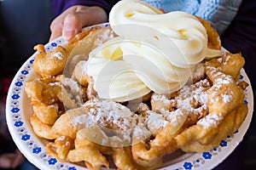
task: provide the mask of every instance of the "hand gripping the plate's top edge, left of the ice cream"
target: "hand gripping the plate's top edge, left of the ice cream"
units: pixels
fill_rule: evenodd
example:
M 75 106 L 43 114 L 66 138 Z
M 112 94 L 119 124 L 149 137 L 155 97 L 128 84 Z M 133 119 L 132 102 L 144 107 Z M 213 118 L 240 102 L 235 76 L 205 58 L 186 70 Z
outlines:
M 106 22 L 108 15 L 103 8 L 76 5 L 67 8 L 50 25 L 51 36 L 49 41 L 63 36 L 66 40 L 74 37 L 84 26 L 91 26 Z

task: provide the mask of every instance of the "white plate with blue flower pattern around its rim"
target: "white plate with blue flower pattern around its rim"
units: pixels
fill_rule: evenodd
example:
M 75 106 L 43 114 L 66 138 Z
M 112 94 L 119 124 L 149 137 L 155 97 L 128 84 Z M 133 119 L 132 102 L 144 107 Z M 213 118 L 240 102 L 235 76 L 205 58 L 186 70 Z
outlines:
M 108 26 L 108 24 L 105 23 L 101 26 Z M 88 29 L 90 28 L 91 27 Z M 57 45 L 63 43 L 65 42 L 60 37 L 46 44 L 45 48 L 47 51 L 50 51 Z M 32 107 L 30 100 L 26 97 L 24 92 L 24 86 L 27 80 L 32 79 L 36 75 L 35 71 L 32 69 L 32 62 L 36 54 L 37 53 L 33 54 L 26 60 L 10 85 L 6 104 L 6 117 L 9 131 L 15 144 L 17 144 L 24 156 L 40 169 L 86 169 L 78 164 L 58 161 L 55 157 L 46 154 L 45 144 L 47 141 L 39 139 L 32 131 L 32 127 L 29 123 L 29 117 L 32 115 Z M 241 71 L 241 79 L 249 83 L 249 79 L 244 70 Z M 224 161 L 241 142 L 251 122 L 253 116 L 253 91 L 251 86 L 247 87 L 245 102 L 248 105 L 248 114 L 245 121 L 241 124 L 241 127 L 236 133 L 228 136 L 217 148 L 203 153 L 183 153 L 177 150 L 171 155 L 164 156 L 164 162 L 160 169 L 212 169 L 220 162 Z

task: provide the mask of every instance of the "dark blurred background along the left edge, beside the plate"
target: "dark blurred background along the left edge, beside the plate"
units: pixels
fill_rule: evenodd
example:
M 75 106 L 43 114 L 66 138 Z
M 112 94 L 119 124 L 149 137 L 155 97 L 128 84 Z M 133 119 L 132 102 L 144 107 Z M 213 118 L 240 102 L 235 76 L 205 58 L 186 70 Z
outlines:
M 0 170 L 10 160 L 19 161 L 12 169 L 36 170 L 17 150 L 5 121 L 5 99 L 9 83 L 38 43 L 49 40 L 53 20 L 49 0 L 0 0 Z

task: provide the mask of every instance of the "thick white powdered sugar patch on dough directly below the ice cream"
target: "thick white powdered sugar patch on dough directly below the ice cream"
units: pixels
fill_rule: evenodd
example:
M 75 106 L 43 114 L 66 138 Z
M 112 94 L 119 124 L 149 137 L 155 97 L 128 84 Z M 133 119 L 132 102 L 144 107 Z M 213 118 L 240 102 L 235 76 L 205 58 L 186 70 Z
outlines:
M 151 135 L 145 119 L 124 105 L 110 100 L 88 100 L 82 107 L 86 111 L 73 118 L 74 126 L 107 127 L 112 133 L 110 141 L 130 144 L 131 136 L 139 141 Z

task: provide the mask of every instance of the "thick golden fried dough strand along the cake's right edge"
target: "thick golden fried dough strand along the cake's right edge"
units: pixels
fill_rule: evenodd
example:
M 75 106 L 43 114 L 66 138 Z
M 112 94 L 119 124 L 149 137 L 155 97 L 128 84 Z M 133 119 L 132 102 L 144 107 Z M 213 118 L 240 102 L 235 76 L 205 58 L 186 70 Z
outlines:
M 236 61 L 240 62 L 240 59 L 236 59 Z M 247 115 L 247 105 L 243 104 L 243 90 L 236 85 L 233 77 L 221 72 L 222 67 L 218 68 L 208 63 L 207 77 L 213 82 L 212 88 L 208 91 L 209 114 L 195 126 L 189 127 L 177 135 L 177 145 L 182 150 L 197 152 L 210 150 L 220 143 L 220 139 L 234 133 Z M 239 112 L 237 113 L 237 111 Z M 237 116 L 238 114 L 239 116 Z M 236 120 L 236 123 L 230 120 Z M 221 134 L 219 134 L 220 132 Z

